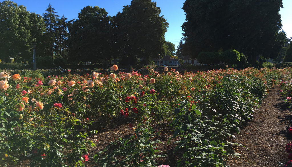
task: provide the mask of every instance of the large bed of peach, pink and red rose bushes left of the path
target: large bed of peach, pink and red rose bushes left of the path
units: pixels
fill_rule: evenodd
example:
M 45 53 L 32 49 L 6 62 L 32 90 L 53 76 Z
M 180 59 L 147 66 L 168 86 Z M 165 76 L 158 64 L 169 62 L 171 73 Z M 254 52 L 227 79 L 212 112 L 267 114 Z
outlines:
M 148 74 L 142 75 L 117 70 L 114 65 L 104 74 L 67 70 L 67 75 L 46 77 L 0 73 L 0 163 L 9 166 L 31 156 L 32 166 L 82 166 L 87 148 L 94 147 L 86 138 L 97 133 L 89 125 L 108 129 L 113 120 L 125 119 L 140 126 L 133 127 L 133 137 L 113 143 L 120 149 L 95 155 L 98 163 L 155 165 L 159 141 L 153 141 L 157 134 L 147 122 L 173 121 L 173 138 L 179 137 L 176 150 L 186 149 L 179 166 L 221 166 L 231 155 L 226 151 L 232 145 L 225 142 L 228 136 L 252 118 L 253 108 L 285 71 L 227 68 L 183 74 L 146 68 Z M 123 160 L 115 157 L 118 150 L 127 151 L 120 154 Z

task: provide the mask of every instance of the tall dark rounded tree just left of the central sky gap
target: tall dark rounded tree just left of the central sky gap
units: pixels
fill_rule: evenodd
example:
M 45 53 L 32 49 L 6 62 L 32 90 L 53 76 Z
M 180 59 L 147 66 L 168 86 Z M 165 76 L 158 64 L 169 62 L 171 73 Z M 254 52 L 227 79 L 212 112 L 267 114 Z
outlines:
M 160 54 L 165 55 L 165 38 L 168 23 L 156 2 L 151 0 L 132 0 L 131 5 L 124 6 L 122 13 L 114 17 L 114 32 L 117 40 L 117 51 L 122 59 L 145 59 L 148 64 L 150 58 Z

